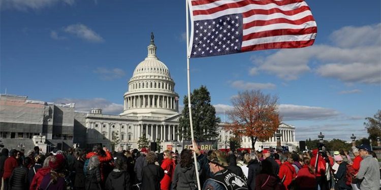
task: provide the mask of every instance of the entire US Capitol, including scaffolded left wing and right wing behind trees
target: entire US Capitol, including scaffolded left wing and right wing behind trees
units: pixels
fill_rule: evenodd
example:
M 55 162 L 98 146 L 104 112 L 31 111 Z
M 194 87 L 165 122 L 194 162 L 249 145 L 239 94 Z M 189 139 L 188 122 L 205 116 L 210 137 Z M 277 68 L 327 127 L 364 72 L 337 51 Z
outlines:
M 28 100 L 27 96 L 0 95 L 0 140 L 8 148 L 43 150 L 91 147 L 102 144 L 114 148 L 137 148 L 142 135 L 154 142 L 160 139 L 163 149 L 182 149 L 179 132 L 179 95 L 168 67 L 156 56 L 153 37 L 147 57 L 140 62 L 123 95 L 123 112 L 107 115 L 101 108 L 89 113 L 76 112 L 75 104 L 59 104 Z M 229 148 L 230 131 L 219 124 L 218 148 Z M 282 145 L 295 149 L 295 127 L 281 124 Z M 275 137 L 257 142 L 256 149 L 276 146 Z M 251 147 L 250 138 L 243 137 L 241 147 Z

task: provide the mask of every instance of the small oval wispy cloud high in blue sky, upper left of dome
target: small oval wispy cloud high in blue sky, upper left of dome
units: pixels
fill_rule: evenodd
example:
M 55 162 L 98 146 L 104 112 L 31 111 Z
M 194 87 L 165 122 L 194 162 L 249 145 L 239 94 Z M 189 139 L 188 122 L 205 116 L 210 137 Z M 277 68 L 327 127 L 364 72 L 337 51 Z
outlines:
M 91 28 L 83 24 L 72 24 L 64 28 L 64 31 L 74 34 L 88 42 L 103 42 L 103 38 Z

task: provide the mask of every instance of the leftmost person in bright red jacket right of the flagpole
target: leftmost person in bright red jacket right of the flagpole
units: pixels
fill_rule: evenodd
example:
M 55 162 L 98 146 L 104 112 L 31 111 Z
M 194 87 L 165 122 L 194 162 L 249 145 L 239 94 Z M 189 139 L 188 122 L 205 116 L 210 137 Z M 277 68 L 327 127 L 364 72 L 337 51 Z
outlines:
M 294 166 L 291 165 L 292 158 L 289 155 L 284 155 L 280 161 L 282 164 L 280 165 L 278 176 L 282 180 L 285 189 L 288 190 L 291 182 L 296 178 L 296 171 Z

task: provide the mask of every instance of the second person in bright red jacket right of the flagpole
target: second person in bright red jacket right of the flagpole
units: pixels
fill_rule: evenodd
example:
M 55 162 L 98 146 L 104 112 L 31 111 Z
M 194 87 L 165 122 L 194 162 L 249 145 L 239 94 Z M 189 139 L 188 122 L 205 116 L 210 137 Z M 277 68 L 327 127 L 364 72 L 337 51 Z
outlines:
M 309 190 L 316 187 L 315 171 L 310 165 L 309 158 L 303 158 L 303 166 L 298 172 L 295 183 L 299 190 Z

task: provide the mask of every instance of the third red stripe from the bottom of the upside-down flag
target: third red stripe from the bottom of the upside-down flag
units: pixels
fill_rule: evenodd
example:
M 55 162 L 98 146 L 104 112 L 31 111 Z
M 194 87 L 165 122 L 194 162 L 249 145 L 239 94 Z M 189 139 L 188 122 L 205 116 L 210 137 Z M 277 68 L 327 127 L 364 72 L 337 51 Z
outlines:
M 243 19 L 244 20 L 244 19 Z M 301 18 L 299 20 L 289 20 L 285 18 L 275 18 L 271 20 L 254 20 L 249 23 L 243 22 L 243 28 L 251 28 L 255 26 L 266 26 L 266 25 L 271 25 L 271 24 L 277 24 L 277 23 L 288 23 L 288 24 L 296 24 L 296 25 L 301 25 L 304 23 L 308 23 L 310 20 L 313 20 L 312 15 L 306 16 L 304 18 Z

